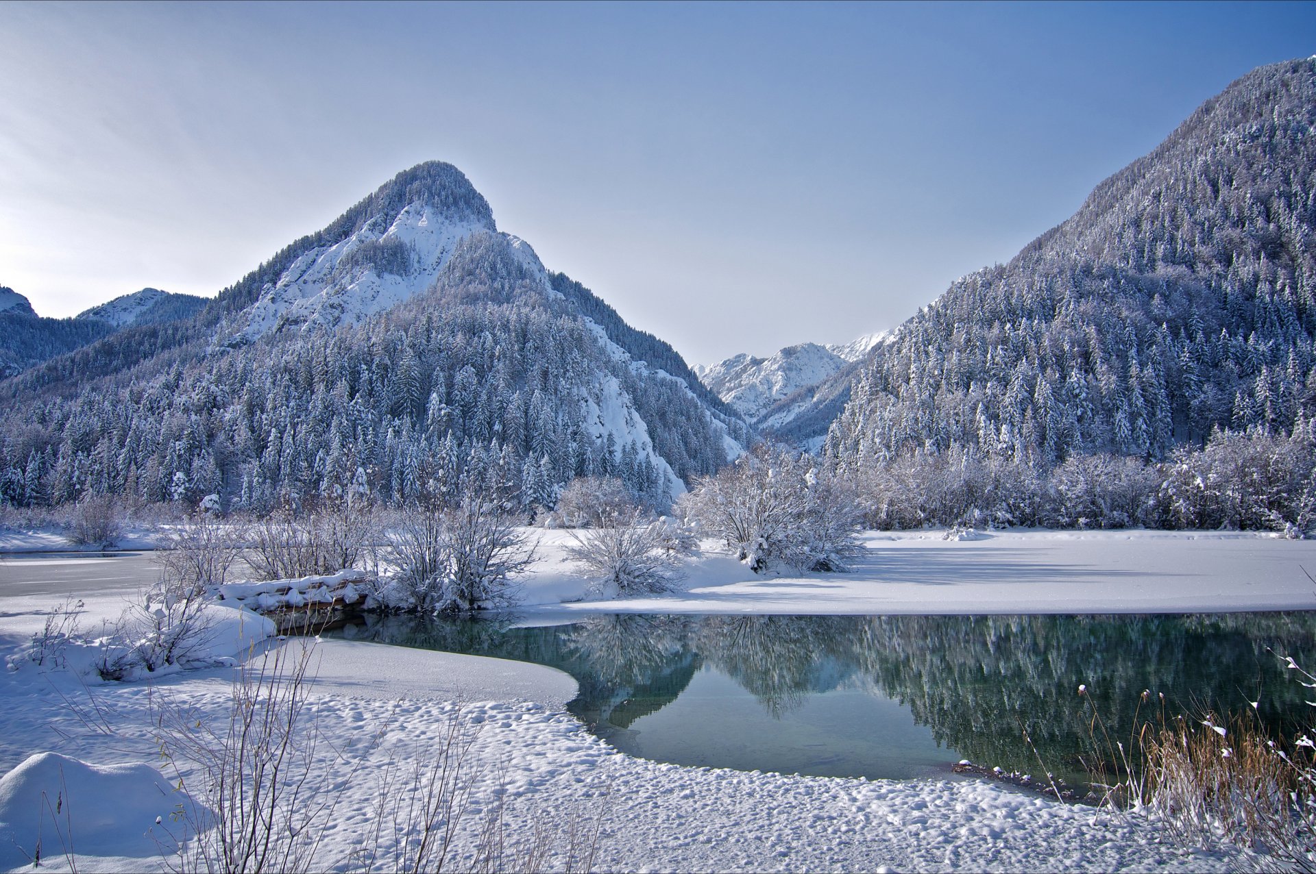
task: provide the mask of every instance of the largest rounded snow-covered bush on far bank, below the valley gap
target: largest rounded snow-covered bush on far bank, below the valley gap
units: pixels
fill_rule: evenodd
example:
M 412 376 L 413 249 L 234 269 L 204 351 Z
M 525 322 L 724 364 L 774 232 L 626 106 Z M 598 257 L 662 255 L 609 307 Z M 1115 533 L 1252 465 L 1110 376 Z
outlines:
M 699 480 L 678 509 L 755 573 L 772 565 L 841 570 L 858 549 L 849 486 L 812 459 L 766 444 Z

